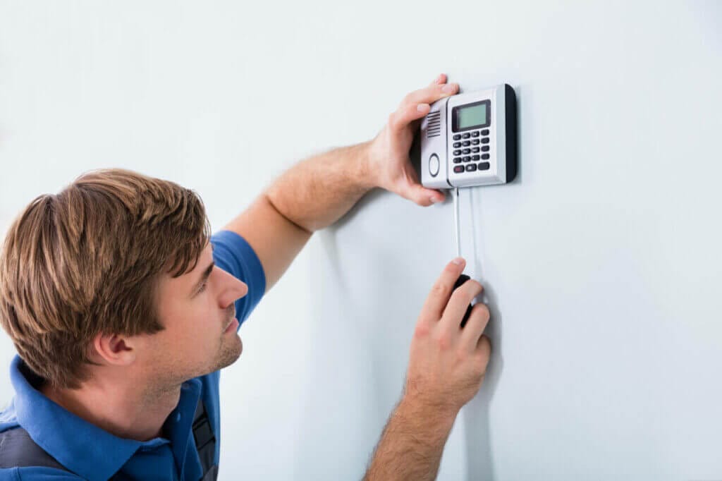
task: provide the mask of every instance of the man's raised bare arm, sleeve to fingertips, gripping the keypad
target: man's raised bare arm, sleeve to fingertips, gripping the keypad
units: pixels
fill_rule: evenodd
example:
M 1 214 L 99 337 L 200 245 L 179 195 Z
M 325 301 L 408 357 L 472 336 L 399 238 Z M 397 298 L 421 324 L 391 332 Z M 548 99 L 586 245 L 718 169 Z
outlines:
M 409 149 L 430 103 L 457 91 L 458 84 L 447 84 L 440 75 L 430 86 L 406 95 L 375 139 L 299 162 L 225 226 L 256 251 L 266 273 L 266 290 L 314 231 L 339 220 L 371 188 L 386 188 L 422 206 L 443 200 L 441 192 L 419 184 Z

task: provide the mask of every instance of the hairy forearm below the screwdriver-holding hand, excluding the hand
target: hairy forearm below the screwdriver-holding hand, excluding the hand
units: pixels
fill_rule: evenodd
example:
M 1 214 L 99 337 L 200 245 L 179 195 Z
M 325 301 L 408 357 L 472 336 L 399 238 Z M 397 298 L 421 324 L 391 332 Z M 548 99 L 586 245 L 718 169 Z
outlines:
M 401 399 L 383 430 L 364 481 L 436 478 L 456 415 L 421 409 Z

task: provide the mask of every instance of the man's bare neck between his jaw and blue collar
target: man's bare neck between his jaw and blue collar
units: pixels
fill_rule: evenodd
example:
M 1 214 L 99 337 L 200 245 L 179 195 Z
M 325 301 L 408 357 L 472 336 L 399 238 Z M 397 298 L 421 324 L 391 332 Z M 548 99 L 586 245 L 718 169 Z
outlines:
M 144 389 L 142 384 L 92 378 L 79 389 L 44 384 L 40 391 L 64 409 L 119 438 L 148 441 L 162 434 L 162 426 L 178 405 L 181 386 Z

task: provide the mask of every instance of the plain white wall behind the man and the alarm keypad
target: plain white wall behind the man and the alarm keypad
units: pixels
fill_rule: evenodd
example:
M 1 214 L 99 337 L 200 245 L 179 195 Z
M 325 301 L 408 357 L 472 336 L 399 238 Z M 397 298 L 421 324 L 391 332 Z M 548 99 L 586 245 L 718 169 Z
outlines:
M 439 479 L 721 479 L 720 4 L 342 3 L 2 1 L 0 230 L 105 166 L 219 228 L 440 71 L 508 82 L 518 181 L 462 199 L 494 351 Z M 452 222 L 376 192 L 316 235 L 222 376 L 222 479 L 362 476 Z

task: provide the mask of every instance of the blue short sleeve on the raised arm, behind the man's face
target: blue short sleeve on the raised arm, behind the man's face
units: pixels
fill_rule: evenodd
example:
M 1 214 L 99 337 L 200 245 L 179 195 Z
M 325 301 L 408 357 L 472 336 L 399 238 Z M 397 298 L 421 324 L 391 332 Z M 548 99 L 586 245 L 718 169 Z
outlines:
M 211 236 L 213 261 L 248 285 L 248 294 L 235 301 L 238 324 L 248 318 L 266 292 L 266 273 L 251 245 L 231 230 L 221 230 Z

